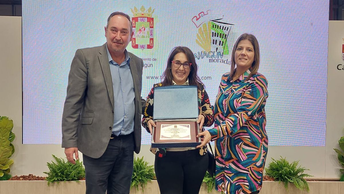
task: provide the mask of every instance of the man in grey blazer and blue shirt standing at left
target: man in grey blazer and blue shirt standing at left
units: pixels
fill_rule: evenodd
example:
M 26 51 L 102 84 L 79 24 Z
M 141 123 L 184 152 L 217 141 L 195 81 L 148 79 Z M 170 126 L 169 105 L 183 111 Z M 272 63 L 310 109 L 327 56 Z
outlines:
M 112 13 L 107 42 L 78 49 L 68 76 L 62 116 L 62 147 L 75 163 L 83 153 L 86 193 L 129 193 L 133 152 L 140 152 L 141 58 L 126 50 L 132 40 L 130 17 Z

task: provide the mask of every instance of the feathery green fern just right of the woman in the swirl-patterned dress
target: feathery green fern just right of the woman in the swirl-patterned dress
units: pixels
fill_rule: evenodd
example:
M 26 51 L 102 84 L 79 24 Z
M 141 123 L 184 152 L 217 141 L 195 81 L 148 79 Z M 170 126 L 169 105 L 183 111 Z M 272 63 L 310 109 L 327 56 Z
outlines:
M 286 158 L 281 158 L 279 160 L 271 158 L 269 167 L 266 168 L 266 175 L 274 178 L 276 181 L 283 182 L 284 187 L 288 189 L 288 184 L 292 183 L 299 190 L 306 190 L 309 192 L 309 187 L 305 177 L 312 177 L 305 173 L 309 169 L 299 166 L 299 161 L 293 161 L 289 163 Z

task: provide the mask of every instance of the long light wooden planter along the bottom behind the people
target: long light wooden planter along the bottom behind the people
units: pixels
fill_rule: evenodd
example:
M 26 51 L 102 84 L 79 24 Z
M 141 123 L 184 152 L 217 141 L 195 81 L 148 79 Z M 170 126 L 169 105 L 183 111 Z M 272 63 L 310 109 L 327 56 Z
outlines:
M 344 194 L 344 182 L 338 181 L 310 181 L 308 182 L 310 192 L 300 191 L 295 186 L 289 185 L 288 191 L 283 184 L 275 181 L 264 181 L 259 194 Z M 46 181 L 0 181 L 0 194 L 85 194 L 85 181 L 60 182 L 48 187 Z M 131 194 L 159 194 L 157 181 L 148 182 L 147 186 L 139 191 L 131 188 Z M 211 194 L 220 194 L 213 190 Z M 206 185 L 201 187 L 200 194 L 207 194 Z

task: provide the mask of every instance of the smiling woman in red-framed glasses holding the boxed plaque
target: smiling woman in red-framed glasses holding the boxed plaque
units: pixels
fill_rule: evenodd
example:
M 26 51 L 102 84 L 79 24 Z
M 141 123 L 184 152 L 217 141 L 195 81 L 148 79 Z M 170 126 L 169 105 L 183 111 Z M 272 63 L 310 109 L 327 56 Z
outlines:
M 197 64 L 192 51 L 187 47 L 175 47 L 163 72 L 163 81 L 154 87 L 170 85 L 196 85 L 198 90 L 197 123 L 211 126 L 214 123 L 213 110 L 208 95 L 197 75 Z M 144 109 L 142 125 L 152 134 L 154 89 L 150 91 Z M 183 109 L 183 107 L 176 107 Z M 161 194 L 199 193 L 208 167 L 206 147 L 151 148 L 155 154 L 154 169 Z

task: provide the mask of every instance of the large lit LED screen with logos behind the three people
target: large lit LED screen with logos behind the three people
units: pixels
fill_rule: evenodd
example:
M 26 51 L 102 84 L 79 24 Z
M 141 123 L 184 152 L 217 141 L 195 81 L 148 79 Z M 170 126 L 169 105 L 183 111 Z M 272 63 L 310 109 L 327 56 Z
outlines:
M 260 45 L 268 79 L 269 145 L 325 146 L 329 2 L 23 1 L 23 143 L 60 144 L 67 78 L 76 49 L 103 45 L 110 13 L 132 17 L 127 49 L 144 61 L 142 97 L 160 82 L 175 46 L 187 46 L 214 104 L 242 33 Z M 142 131 L 142 144 L 150 144 Z

